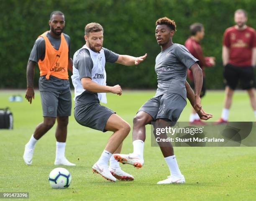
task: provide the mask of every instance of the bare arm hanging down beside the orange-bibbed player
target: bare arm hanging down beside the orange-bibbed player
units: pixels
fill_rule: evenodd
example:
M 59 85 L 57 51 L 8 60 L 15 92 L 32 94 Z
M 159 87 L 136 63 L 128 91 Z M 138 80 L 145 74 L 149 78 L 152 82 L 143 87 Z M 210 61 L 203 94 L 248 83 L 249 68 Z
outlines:
M 28 60 L 28 65 L 27 65 L 27 91 L 25 98 L 32 103 L 32 98 L 35 98 L 35 92 L 34 92 L 34 69 L 36 66 L 35 61 Z

